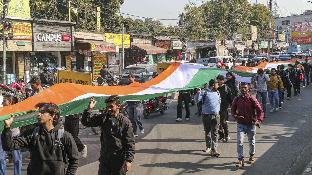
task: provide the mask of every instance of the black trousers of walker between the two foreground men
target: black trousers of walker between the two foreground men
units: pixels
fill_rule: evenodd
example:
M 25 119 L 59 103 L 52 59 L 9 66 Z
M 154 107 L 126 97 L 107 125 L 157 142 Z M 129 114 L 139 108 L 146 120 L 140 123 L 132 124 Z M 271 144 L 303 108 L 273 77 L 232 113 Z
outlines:
M 78 151 L 81 152 L 85 148 L 85 146 L 81 143 L 80 139 L 78 138 L 79 118 L 66 118 L 64 121 L 64 130 L 71 133 L 77 145 Z

